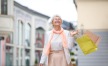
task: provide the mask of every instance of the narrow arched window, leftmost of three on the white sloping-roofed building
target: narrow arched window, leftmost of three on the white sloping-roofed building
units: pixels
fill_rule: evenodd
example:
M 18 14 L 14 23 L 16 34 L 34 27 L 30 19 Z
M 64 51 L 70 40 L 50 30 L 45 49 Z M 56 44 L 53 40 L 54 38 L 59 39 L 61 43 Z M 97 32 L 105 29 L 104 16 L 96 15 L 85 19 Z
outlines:
M 23 44 L 23 23 L 22 21 L 18 21 L 18 44 Z

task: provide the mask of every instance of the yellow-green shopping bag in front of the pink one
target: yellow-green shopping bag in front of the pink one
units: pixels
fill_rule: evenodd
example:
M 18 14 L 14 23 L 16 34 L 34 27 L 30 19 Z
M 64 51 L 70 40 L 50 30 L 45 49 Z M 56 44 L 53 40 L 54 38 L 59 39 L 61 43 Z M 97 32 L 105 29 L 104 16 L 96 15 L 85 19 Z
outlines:
M 85 55 L 95 52 L 97 50 L 96 44 L 89 38 L 89 36 L 85 34 L 77 38 L 76 42 L 78 43 L 79 47 Z

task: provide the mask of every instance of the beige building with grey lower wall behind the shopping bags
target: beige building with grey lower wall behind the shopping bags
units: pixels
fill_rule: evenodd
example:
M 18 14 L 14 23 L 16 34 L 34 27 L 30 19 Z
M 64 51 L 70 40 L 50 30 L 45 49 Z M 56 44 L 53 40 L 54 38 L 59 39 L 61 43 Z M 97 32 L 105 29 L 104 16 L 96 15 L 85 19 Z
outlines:
M 78 50 L 78 66 L 108 66 L 108 0 L 77 0 L 78 29 L 101 37 L 98 50 L 84 55 Z

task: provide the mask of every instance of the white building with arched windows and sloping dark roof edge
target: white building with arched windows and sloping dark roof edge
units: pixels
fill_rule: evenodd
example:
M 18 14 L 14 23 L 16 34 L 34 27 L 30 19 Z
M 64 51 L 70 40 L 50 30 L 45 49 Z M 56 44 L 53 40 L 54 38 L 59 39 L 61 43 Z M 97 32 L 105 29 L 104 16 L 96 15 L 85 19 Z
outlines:
M 30 10 L 17 2 L 14 2 L 14 5 L 16 64 L 30 66 L 35 60 L 40 61 L 49 16 Z

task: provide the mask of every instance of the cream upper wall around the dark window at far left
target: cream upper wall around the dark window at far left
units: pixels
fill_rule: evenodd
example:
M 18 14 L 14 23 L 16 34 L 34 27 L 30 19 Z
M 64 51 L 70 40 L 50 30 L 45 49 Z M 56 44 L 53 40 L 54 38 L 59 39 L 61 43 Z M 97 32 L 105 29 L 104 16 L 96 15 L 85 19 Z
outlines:
M 8 34 L 13 32 L 13 0 L 7 0 L 7 15 L 1 14 L 1 0 L 0 0 L 0 33 Z

